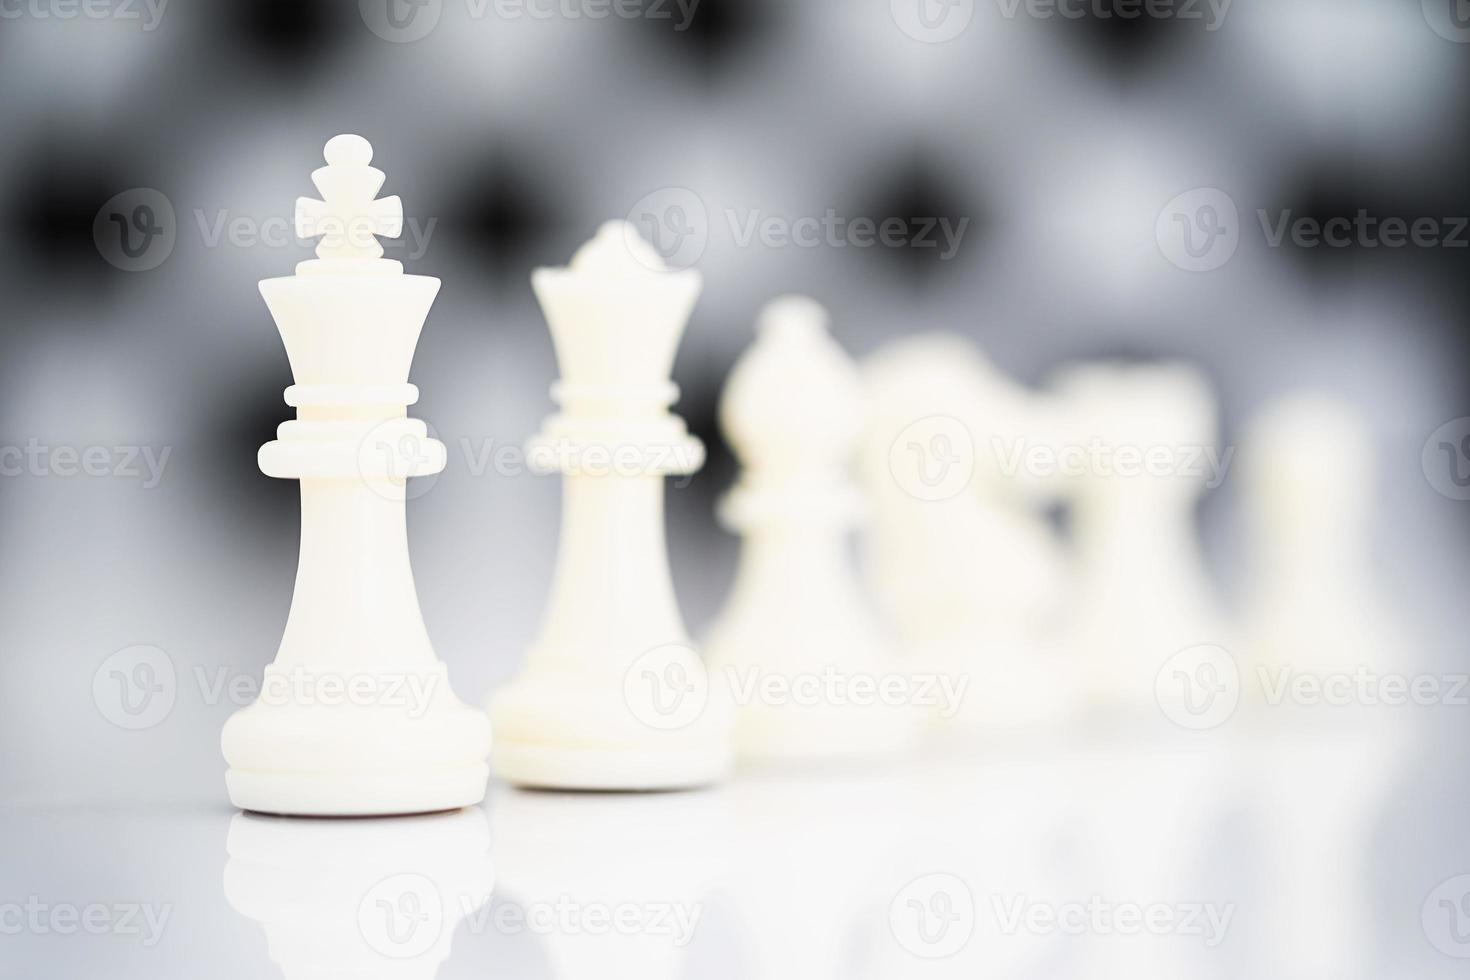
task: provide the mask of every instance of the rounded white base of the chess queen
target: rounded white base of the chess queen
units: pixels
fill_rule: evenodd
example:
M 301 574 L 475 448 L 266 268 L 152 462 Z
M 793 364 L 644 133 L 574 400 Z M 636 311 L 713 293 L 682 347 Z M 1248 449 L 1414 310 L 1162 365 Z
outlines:
M 495 695 L 490 714 L 491 765 L 526 789 L 694 789 L 726 779 L 734 765 L 729 714 L 717 704 L 659 729 L 629 711 L 620 691 L 522 679 Z

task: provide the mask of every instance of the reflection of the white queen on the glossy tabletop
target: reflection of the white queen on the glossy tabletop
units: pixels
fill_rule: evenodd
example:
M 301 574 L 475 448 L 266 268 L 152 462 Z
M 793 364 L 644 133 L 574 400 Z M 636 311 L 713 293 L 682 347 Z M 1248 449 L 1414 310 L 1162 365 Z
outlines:
M 729 860 L 725 790 L 494 799 L 492 921 L 529 933 L 553 980 L 676 980 Z

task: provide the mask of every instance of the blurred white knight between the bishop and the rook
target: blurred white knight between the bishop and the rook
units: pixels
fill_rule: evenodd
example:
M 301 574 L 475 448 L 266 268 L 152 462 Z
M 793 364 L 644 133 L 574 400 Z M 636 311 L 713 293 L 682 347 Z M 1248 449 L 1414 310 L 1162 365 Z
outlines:
M 916 664 L 970 679 L 944 730 L 1063 721 L 1072 671 L 1050 624 L 1067 574 L 1041 514 L 1054 482 L 1030 466 L 1053 441 L 1048 406 L 956 335 L 891 344 L 863 375 L 870 583 Z

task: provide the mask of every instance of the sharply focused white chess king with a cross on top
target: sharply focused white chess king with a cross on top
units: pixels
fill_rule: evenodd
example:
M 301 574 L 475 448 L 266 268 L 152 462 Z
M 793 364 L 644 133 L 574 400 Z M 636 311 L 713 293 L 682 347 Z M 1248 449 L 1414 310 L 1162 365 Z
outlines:
M 301 480 L 291 613 L 260 698 L 225 724 L 231 801 L 298 815 L 407 814 L 479 802 L 490 723 L 450 691 L 409 566 L 404 483 L 438 473 L 444 445 L 407 417 L 409 366 L 440 281 L 382 257 L 403 206 L 375 200 L 372 147 L 341 135 L 297 201 L 320 237 L 294 276 L 266 279 L 297 417 L 260 447 L 268 476 Z

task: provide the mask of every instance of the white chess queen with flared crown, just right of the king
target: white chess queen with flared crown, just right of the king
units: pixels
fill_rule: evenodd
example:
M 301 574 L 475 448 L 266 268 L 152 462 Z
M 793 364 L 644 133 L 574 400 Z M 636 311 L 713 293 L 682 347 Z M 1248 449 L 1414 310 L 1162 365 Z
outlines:
M 669 411 L 700 273 L 670 272 L 625 222 L 531 276 L 560 411 L 529 447 L 563 475 L 551 599 L 525 670 L 491 702 L 495 771 L 522 786 L 675 789 L 725 776 L 728 713 L 675 601 L 663 482 L 704 447 Z

